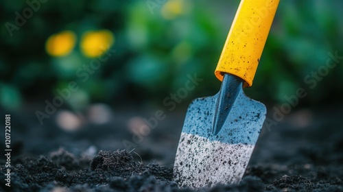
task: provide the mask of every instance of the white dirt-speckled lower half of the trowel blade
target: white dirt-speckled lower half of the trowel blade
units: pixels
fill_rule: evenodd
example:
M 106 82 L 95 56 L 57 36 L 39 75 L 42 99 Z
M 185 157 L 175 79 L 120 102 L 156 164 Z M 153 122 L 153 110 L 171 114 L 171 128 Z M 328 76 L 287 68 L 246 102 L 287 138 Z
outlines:
M 209 141 L 202 136 L 182 132 L 174 163 L 174 178 L 180 187 L 193 189 L 217 183 L 238 183 L 254 147 Z

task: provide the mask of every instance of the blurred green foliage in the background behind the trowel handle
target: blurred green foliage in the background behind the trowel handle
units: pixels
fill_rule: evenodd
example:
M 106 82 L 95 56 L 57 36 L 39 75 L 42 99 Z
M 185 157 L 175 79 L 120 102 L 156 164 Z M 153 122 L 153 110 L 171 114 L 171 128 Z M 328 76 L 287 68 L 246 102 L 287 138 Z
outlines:
M 1 1 L 0 104 L 5 108 L 44 104 L 73 80 L 80 89 L 68 101 L 72 108 L 93 101 L 162 104 L 185 86 L 187 74 L 194 73 L 204 81 L 186 100 L 214 95 L 220 82 L 213 71 L 238 4 L 238 0 L 169 0 L 152 9 L 147 1 L 47 1 L 11 37 L 5 23 L 14 24 L 16 12 L 23 15 L 29 5 Z M 302 104 L 340 101 L 343 60 L 315 88 L 309 88 L 304 78 L 327 62 L 329 52 L 343 56 L 342 8 L 340 0 L 281 1 L 247 95 L 281 103 L 285 95 L 303 87 L 309 94 Z M 97 29 L 113 32 L 115 53 L 82 82 L 76 71 L 91 58 L 80 51 L 80 38 Z M 46 40 L 63 30 L 76 34 L 76 46 L 67 56 L 51 57 L 45 51 Z

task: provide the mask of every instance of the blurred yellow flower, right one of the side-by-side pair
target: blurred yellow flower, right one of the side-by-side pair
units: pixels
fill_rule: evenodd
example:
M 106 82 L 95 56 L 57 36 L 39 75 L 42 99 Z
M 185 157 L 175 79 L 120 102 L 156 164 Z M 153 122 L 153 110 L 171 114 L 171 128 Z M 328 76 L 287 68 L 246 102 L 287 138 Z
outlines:
M 81 50 L 85 56 L 95 58 L 108 51 L 114 41 L 112 32 L 106 29 L 86 32 L 81 39 Z

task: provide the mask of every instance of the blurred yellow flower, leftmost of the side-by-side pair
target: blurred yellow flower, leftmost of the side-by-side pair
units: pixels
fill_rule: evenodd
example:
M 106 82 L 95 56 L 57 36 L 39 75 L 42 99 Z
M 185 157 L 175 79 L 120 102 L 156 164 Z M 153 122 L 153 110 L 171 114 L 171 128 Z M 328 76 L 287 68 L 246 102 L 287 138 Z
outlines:
M 76 36 L 71 31 L 53 34 L 47 39 L 45 50 L 50 56 L 67 56 L 75 47 Z

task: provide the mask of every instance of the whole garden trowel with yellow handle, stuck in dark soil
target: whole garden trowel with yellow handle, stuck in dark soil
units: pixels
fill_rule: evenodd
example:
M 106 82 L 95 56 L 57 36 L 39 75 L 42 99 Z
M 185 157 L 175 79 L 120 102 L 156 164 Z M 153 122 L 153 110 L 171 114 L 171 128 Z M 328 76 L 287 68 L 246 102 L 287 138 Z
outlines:
M 195 99 L 187 110 L 174 163 L 180 187 L 241 180 L 267 112 L 243 88 L 252 86 L 278 5 L 279 0 L 241 0 L 215 69 L 220 92 Z

